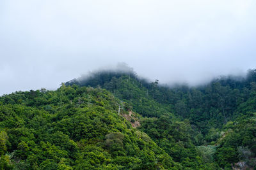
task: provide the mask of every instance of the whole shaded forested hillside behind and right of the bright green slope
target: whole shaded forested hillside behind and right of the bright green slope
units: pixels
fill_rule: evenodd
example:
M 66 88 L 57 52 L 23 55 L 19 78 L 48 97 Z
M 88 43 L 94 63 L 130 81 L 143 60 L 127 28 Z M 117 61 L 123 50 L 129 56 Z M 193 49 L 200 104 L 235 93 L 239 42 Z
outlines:
M 250 69 L 246 77 L 221 76 L 198 87 L 168 87 L 159 85 L 158 80 L 150 83 L 133 71 L 99 71 L 66 84 L 100 86 L 129 103 L 132 110 L 144 117 L 139 129 L 173 160 L 196 162 L 198 151 L 205 162 L 230 169 L 239 161 L 244 166 L 256 165 L 255 82 L 256 70 Z M 175 129 L 179 130 L 175 132 Z M 237 133 L 241 134 L 237 136 L 239 141 L 225 144 Z M 248 143 L 243 143 L 247 139 Z M 244 152 L 249 155 L 246 159 L 242 156 Z

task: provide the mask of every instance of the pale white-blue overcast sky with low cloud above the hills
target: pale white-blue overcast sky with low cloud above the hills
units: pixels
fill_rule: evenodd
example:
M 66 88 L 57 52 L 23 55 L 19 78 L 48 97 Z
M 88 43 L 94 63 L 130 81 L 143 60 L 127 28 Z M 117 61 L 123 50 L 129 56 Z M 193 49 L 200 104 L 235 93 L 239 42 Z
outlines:
M 0 96 L 125 62 L 198 85 L 256 67 L 256 1 L 1 0 Z

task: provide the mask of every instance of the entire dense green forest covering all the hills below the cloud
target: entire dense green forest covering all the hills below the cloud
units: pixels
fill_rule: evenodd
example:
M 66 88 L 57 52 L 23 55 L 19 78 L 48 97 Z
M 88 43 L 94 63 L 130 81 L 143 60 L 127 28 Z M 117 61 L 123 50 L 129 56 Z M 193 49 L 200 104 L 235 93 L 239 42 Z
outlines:
M 253 169 L 256 69 L 168 87 L 97 71 L 0 97 L 1 169 Z

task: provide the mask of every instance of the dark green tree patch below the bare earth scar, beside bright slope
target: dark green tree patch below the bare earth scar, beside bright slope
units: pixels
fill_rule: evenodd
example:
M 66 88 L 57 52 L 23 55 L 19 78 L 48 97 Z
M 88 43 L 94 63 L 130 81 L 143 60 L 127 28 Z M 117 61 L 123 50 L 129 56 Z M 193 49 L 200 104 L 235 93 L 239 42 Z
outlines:
M 145 118 L 141 122 L 140 129 L 146 132 L 173 160 L 180 162 L 183 168 L 191 167 L 191 162 L 194 169 L 201 167 L 200 153 L 192 142 L 195 141 L 192 136 L 195 132 L 188 121 L 172 122 L 167 116 L 158 119 Z

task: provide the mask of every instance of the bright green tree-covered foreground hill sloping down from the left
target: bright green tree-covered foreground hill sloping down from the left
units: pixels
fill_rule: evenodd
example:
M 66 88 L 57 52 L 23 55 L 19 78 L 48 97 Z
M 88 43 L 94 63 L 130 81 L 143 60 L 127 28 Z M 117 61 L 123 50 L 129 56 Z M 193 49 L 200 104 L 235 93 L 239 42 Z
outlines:
M 62 85 L 56 91 L 15 92 L 0 101 L 2 169 L 177 166 L 118 115 L 120 101 L 107 90 Z

